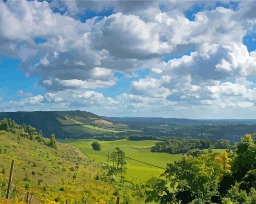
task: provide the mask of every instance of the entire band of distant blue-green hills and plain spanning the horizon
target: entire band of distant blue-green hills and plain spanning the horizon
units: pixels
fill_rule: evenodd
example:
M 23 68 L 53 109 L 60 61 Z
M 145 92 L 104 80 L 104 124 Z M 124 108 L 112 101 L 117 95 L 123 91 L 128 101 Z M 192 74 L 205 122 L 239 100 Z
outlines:
M 2 112 L 0 120 L 11 118 L 31 124 L 45 137 L 58 139 L 117 140 L 133 135 L 187 137 L 239 141 L 256 130 L 255 120 L 190 120 L 178 118 L 109 118 L 86 111 Z

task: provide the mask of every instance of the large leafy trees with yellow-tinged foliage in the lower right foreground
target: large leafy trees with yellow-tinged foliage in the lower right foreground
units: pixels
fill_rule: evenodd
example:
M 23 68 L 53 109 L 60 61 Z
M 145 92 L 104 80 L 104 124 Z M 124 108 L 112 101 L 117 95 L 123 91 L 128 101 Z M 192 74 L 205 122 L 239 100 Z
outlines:
M 254 134 L 255 137 L 255 134 Z M 256 144 L 247 134 L 237 150 L 184 157 L 146 185 L 146 202 L 256 203 Z

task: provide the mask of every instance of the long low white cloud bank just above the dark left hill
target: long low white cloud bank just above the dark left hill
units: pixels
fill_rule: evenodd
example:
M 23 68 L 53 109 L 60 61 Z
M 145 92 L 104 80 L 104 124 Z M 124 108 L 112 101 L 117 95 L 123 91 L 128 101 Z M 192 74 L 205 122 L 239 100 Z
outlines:
M 123 109 L 137 112 L 146 112 L 149 110 L 162 109 L 164 107 L 172 107 L 176 102 L 172 102 L 163 98 L 143 97 L 133 94 L 120 94 L 114 98 L 105 97 L 102 93 L 95 91 L 82 90 L 64 90 L 54 93 L 46 93 L 45 95 L 36 95 L 23 98 L 19 101 L 9 101 L 0 104 L 1 110 L 19 110 L 20 107 L 40 106 L 40 110 L 49 110 L 55 107 L 58 110 L 66 109 L 91 109 L 91 110 L 115 110 L 122 113 Z M 25 109 L 26 110 L 26 109 Z

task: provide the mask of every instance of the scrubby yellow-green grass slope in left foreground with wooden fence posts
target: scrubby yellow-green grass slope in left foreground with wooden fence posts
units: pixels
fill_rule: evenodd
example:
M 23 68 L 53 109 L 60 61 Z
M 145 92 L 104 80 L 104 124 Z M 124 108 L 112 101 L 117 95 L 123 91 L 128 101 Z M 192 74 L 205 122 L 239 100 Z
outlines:
M 109 183 L 95 179 L 101 171 L 101 164 L 88 158 L 77 147 L 56 143 L 56 148 L 46 144 L 44 137 L 39 142 L 36 135 L 26 138 L 21 126 L 10 127 L 10 131 L 0 130 L 0 198 L 5 196 L 7 177 L 12 160 L 15 160 L 13 187 L 11 197 L 25 199 L 25 194 L 33 194 L 33 204 L 48 203 L 80 203 L 88 200 L 88 204 L 104 199 L 111 203 L 117 195 L 133 202 L 131 184 Z M 0 123 L 0 126 L 3 122 Z M 27 126 L 31 127 L 31 126 Z M 42 142 L 44 141 L 44 142 Z M 130 203 L 130 202 L 129 202 Z

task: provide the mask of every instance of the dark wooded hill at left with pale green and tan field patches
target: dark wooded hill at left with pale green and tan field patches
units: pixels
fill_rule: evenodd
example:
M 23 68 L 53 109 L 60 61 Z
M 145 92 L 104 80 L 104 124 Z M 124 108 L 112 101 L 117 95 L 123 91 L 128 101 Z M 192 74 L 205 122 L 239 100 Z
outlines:
M 125 132 L 126 126 L 113 124 L 86 111 L 2 112 L 0 120 L 11 118 L 18 124 L 31 124 L 42 130 L 46 137 L 55 133 L 57 138 L 92 138 L 95 135 L 113 135 Z

